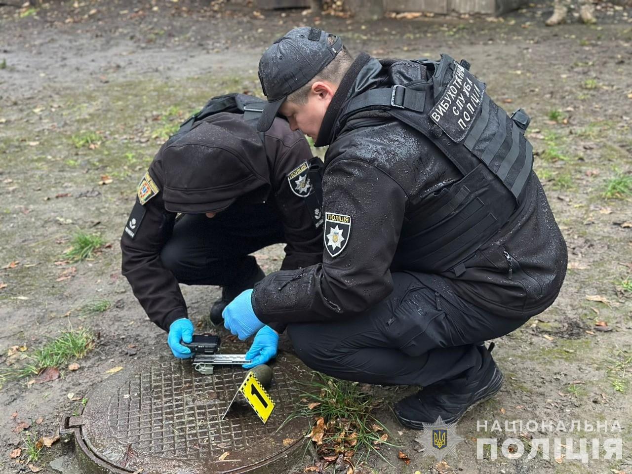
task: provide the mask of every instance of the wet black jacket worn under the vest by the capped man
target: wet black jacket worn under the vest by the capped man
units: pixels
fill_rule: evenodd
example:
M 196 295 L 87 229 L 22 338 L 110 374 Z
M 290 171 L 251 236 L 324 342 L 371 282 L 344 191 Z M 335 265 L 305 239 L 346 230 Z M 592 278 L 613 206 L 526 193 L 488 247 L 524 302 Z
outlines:
M 340 225 L 346 242 L 334 242 L 332 226 L 328 231 L 325 222 L 325 249 L 332 234 L 330 248 L 336 246 L 336 252 L 325 250 L 322 264 L 276 272 L 255 285 L 253 308 L 260 320 L 307 322 L 363 312 L 391 293 L 391 272 L 403 270 L 446 277 L 466 301 L 507 317 L 530 317 L 554 301 L 566 273 L 566 244 L 533 172 L 523 205 L 468 255 L 464 271 L 428 269 L 419 262 L 416 249 L 434 242 L 420 238 L 416 245 L 400 245 L 401 235 L 423 222 L 424 210 L 463 174 L 431 140 L 386 112 L 348 118 L 345 109 L 365 90 L 424 77 L 419 63 L 382 64 L 366 54 L 351 66 L 317 140 L 317 145 L 331 143 L 325 155 L 324 212 L 343 216 L 332 216 L 341 222 L 349 217 L 349 229 Z

